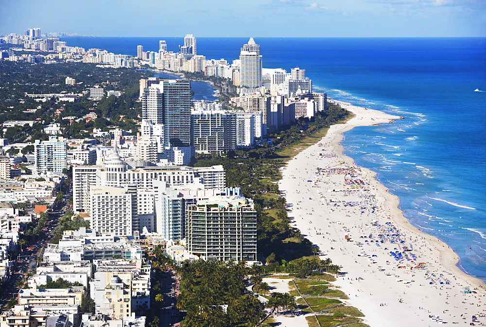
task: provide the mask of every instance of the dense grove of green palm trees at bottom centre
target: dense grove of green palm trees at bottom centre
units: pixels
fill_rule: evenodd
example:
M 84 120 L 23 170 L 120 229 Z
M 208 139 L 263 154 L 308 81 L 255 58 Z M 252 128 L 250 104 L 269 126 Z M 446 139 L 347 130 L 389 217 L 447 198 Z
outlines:
M 177 308 L 185 312 L 181 326 L 257 326 L 263 305 L 246 290 L 251 268 L 244 262 L 185 262 L 178 269 L 181 293 Z

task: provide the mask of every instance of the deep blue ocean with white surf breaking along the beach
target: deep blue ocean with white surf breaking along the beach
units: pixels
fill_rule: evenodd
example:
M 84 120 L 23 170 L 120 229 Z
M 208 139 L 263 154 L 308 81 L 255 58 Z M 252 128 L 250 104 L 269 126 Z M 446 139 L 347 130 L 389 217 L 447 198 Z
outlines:
M 197 36 L 197 35 L 196 35 Z M 183 38 L 66 37 L 68 45 L 135 55 L 137 45 L 178 51 Z M 208 59 L 238 59 L 248 38 L 198 38 Z M 404 116 L 355 128 L 345 153 L 378 173 L 412 224 L 486 279 L 486 38 L 258 38 L 263 66 L 298 65 L 332 98 Z M 206 87 L 206 88 L 205 88 Z M 199 84 L 197 99 L 211 98 Z

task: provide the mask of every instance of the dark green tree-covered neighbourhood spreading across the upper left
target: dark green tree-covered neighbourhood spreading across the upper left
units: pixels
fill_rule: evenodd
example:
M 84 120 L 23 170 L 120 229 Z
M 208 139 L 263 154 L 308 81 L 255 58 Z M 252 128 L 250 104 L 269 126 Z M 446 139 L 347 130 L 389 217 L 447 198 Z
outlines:
M 38 124 L 30 127 L 15 126 L 2 135 L 9 142 L 25 140 L 45 140 L 45 125 L 59 123 L 67 137 L 89 137 L 92 129 L 104 129 L 108 126 L 136 130 L 135 120 L 139 120 L 139 79 L 153 75 L 150 71 L 127 68 L 97 67 L 96 64 L 29 64 L 22 62 L 0 61 L 0 118 L 7 120 L 37 120 Z M 76 80 L 75 85 L 66 85 L 65 78 Z M 105 90 L 120 90 L 119 98 L 105 97 L 100 101 L 89 100 L 86 96 L 78 102 L 56 102 L 54 98 L 46 102 L 37 102 L 25 97 L 28 94 L 81 93 L 95 84 L 102 84 Z M 91 108 L 91 109 L 90 109 Z M 35 112 L 24 112 L 37 109 Z M 57 112 L 57 113 L 56 113 Z M 89 113 L 96 113 L 95 121 L 81 120 L 70 122 L 63 117 L 81 118 Z

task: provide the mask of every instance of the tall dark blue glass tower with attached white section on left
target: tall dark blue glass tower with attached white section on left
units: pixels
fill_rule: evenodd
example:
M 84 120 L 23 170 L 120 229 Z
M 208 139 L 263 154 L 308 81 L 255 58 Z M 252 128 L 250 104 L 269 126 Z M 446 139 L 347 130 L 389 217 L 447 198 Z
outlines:
M 164 124 L 164 146 L 191 147 L 191 85 L 161 80 L 143 90 L 142 119 Z

